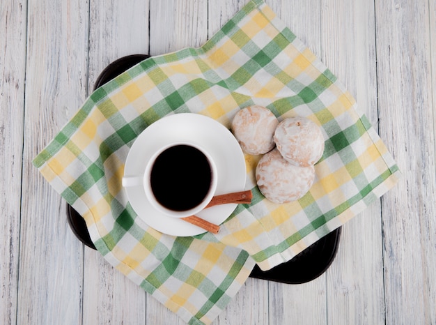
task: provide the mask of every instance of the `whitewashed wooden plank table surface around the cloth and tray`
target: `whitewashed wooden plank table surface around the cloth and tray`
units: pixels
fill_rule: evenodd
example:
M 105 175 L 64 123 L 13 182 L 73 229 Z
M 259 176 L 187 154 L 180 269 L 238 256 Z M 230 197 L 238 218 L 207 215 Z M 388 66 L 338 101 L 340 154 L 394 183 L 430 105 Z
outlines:
M 98 252 L 31 160 L 127 54 L 197 47 L 247 0 L 2 0 L 0 324 L 181 324 Z M 333 71 L 403 179 L 304 285 L 249 278 L 214 324 L 436 324 L 436 0 L 267 0 Z

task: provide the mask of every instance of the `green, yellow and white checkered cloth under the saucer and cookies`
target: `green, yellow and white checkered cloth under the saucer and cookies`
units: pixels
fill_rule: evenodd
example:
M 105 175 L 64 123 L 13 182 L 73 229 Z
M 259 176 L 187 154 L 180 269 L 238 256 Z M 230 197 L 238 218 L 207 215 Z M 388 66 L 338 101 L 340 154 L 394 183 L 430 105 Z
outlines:
M 310 192 L 274 204 L 238 205 L 219 234 L 174 237 L 137 218 L 121 186 L 132 143 L 151 123 L 181 112 L 230 128 L 249 105 L 279 120 L 306 116 L 326 137 Z M 399 171 L 336 77 L 260 0 L 250 1 L 198 49 L 142 61 L 104 84 L 35 158 L 34 165 L 81 216 L 107 261 L 189 324 L 208 324 L 254 264 L 287 262 L 387 192 Z

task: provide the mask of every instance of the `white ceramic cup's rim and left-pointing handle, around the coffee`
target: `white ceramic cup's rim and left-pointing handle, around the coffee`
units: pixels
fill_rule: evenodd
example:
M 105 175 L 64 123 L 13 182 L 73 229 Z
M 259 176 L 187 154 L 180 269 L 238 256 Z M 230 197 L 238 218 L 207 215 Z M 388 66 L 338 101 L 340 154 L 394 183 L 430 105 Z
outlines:
M 161 204 L 161 202 L 159 202 L 159 200 L 155 195 L 155 192 L 153 191 L 152 172 L 153 172 L 153 168 L 155 167 L 156 160 L 159 158 L 159 156 L 161 156 L 162 153 L 164 153 L 164 151 L 167 151 L 168 149 L 171 149 L 172 147 L 176 147 L 176 146 L 190 146 L 195 149 L 198 149 L 198 151 L 201 151 L 201 153 L 203 153 L 205 158 L 208 160 L 208 165 L 210 168 L 210 186 L 208 187 L 207 192 L 205 192 L 204 198 L 201 199 L 201 202 L 199 204 L 189 207 L 189 209 L 182 209 L 182 210 L 169 209 L 168 206 L 165 206 Z M 184 159 L 184 158 L 181 157 L 180 159 Z M 172 164 L 174 168 L 178 166 L 177 161 L 171 161 L 168 163 Z M 193 179 L 194 177 L 196 177 L 195 173 L 192 174 Z M 205 150 L 202 146 L 199 146 L 194 142 L 180 141 L 180 142 L 172 142 L 170 144 L 166 144 L 166 146 L 163 146 L 158 151 L 153 153 L 150 160 L 148 160 L 147 162 L 143 175 L 129 175 L 128 171 L 125 171 L 125 176 L 123 176 L 122 183 L 123 183 L 123 187 L 143 186 L 143 190 L 146 194 L 146 198 L 144 199 L 147 199 L 154 209 L 173 218 L 184 218 L 187 216 L 193 216 L 196 213 L 205 209 L 205 206 L 208 205 L 212 197 L 215 195 L 215 190 L 217 189 L 217 183 L 218 183 L 218 174 L 217 174 L 217 167 L 215 165 L 215 162 L 213 161 L 212 157 L 210 156 L 207 150 Z M 171 178 L 165 181 L 165 183 L 167 183 L 166 184 L 167 187 L 171 187 Z M 189 184 L 187 184 L 187 186 L 189 186 Z M 169 189 L 169 192 L 171 192 L 171 189 Z M 185 196 L 189 195 L 189 191 L 183 192 L 182 195 Z M 169 199 L 171 199 L 171 197 L 169 197 Z

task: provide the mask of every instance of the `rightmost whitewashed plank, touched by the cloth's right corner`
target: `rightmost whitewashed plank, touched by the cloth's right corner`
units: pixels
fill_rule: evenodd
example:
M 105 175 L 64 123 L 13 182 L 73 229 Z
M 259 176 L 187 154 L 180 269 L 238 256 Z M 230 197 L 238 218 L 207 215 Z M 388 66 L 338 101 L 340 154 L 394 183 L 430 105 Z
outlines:
M 386 323 L 435 324 L 435 3 L 375 4 L 380 134 L 403 172 L 382 199 Z

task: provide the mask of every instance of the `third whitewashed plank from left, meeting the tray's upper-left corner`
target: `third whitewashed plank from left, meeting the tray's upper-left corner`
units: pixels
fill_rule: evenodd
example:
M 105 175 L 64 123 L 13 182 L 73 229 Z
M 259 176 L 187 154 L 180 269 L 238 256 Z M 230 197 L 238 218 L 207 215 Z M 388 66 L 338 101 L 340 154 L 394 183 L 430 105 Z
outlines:
M 112 61 L 148 53 L 148 1 L 90 3 L 88 93 Z M 84 324 L 145 324 L 146 292 L 85 248 Z

